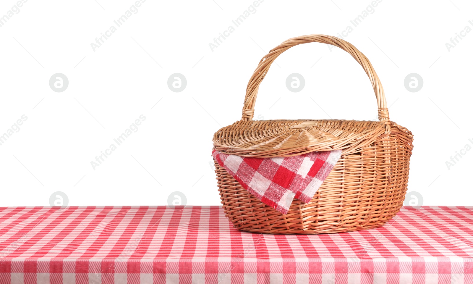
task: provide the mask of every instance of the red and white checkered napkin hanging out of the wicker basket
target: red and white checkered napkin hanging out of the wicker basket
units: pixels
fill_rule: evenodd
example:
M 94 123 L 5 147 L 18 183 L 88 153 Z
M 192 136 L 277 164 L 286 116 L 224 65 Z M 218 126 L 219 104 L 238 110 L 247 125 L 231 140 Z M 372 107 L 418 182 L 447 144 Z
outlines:
M 212 156 L 252 195 L 286 214 L 293 198 L 309 203 L 342 150 L 292 157 L 253 158 L 213 150 Z

